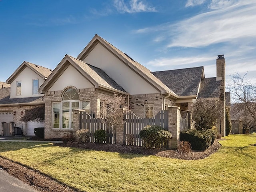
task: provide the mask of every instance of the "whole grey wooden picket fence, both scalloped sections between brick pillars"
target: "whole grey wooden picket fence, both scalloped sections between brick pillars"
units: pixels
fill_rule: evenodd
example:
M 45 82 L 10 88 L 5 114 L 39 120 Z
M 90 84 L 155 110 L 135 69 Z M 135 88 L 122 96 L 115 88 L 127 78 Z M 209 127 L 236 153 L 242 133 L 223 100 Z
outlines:
M 152 118 L 139 118 L 133 112 L 128 112 L 124 114 L 124 121 L 124 144 L 143 146 L 143 142 L 139 136 L 140 130 L 147 125 L 158 125 L 168 130 L 168 110 L 162 110 Z M 99 129 L 103 129 L 107 133 L 106 144 L 112 144 L 114 141 L 110 124 L 106 125 L 101 119 L 93 118 L 86 112 L 80 112 L 80 129 L 88 129 L 90 131 L 88 142 L 96 142 L 94 132 Z M 167 148 L 168 141 L 160 147 Z

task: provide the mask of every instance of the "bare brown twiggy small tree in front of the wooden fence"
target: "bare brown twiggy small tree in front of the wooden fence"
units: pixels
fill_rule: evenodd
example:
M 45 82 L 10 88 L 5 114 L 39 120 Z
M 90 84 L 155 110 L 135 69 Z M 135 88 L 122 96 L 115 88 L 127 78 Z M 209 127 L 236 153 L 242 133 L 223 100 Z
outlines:
M 124 124 L 124 114 L 120 108 L 128 110 L 126 98 L 116 93 L 114 93 L 114 97 L 108 99 L 106 104 L 103 104 L 100 108 L 100 119 L 112 129 L 114 142 L 116 142 L 116 128 Z

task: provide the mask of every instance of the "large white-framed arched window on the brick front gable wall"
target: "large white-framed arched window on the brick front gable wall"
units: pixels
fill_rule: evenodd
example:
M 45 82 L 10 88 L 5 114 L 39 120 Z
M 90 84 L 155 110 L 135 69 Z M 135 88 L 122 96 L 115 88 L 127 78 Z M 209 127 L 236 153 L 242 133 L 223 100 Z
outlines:
M 69 88 L 63 94 L 62 102 L 52 103 L 52 128 L 72 129 L 72 110 L 80 108 L 90 113 L 90 101 L 80 102 L 78 92 L 73 88 Z

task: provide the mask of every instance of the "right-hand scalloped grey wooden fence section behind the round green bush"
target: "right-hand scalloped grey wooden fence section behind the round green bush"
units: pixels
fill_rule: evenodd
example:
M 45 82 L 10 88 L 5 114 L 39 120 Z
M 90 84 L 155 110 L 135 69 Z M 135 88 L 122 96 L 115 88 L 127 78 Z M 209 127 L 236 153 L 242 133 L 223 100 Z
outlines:
M 136 146 L 143 146 L 143 142 L 139 136 L 140 130 L 147 125 L 157 125 L 168 130 L 168 111 L 159 111 L 156 116 L 152 118 L 140 118 L 133 112 L 129 112 L 125 115 L 124 123 L 124 144 L 132 144 Z M 168 141 L 162 144 L 160 147 L 168 147 Z

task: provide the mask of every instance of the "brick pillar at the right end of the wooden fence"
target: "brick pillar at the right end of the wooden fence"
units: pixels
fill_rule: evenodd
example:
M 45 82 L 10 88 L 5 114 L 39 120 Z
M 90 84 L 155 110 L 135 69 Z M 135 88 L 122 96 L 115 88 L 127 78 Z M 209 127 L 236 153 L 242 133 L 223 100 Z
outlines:
M 168 107 L 168 130 L 172 134 L 168 148 L 176 149 L 180 142 L 180 107 Z

